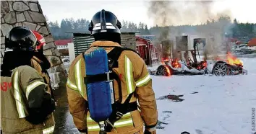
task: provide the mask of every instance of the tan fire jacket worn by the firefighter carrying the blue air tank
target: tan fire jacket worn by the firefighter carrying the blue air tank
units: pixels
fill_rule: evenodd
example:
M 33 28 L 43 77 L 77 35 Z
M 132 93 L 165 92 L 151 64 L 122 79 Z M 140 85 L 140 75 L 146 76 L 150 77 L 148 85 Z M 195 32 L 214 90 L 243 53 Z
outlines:
M 90 45 L 91 51 L 97 46 L 108 46 L 104 48 L 108 53 L 112 47 L 121 47 L 118 43 L 111 41 L 95 41 Z M 69 112 L 72 114 L 74 125 L 83 132 L 88 129 L 89 134 L 97 133 L 100 130 L 98 123 L 90 118 L 86 87 L 84 83 L 85 61 L 78 55 L 69 68 L 67 80 L 67 97 L 69 101 Z M 130 102 L 138 102 L 138 110 L 128 112 L 120 120 L 114 123 L 117 133 L 143 133 L 143 126 L 153 128 L 158 121 L 158 112 L 155 101 L 155 93 L 152 89 L 152 80 L 148 69 L 139 55 L 130 50 L 124 50 L 119 57 L 119 68 L 113 68 L 121 80 L 122 103 L 129 94 L 135 92 Z M 115 99 L 119 99 L 118 84 L 114 81 Z M 101 98 L 98 98 L 101 99 Z M 116 133 L 113 129 L 111 133 Z

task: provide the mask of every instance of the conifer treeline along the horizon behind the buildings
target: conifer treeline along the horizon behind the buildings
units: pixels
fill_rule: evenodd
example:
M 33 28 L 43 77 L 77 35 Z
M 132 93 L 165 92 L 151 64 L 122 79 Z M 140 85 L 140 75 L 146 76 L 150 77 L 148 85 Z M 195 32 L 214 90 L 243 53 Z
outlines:
M 54 37 L 54 40 L 64 40 L 72 38 L 70 32 L 88 32 L 88 25 L 90 21 L 87 19 L 73 18 L 62 19 L 61 24 L 58 22 L 48 21 L 48 26 Z M 220 17 L 217 20 L 208 20 L 204 24 L 197 25 L 182 25 L 182 26 L 169 26 L 169 27 L 155 27 L 148 28 L 148 25 L 140 22 L 121 21 L 121 31 L 139 31 L 138 35 L 157 35 L 161 36 L 161 32 L 168 30 L 172 35 L 197 34 L 198 32 L 206 32 L 209 30 L 222 30 L 226 32 L 226 36 L 238 38 L 242 41 L 249 41 L 252 37 L 256 37 L 256 24 L 255 23 L 240 23 L 236 19 L 231 21 L 229 17 Z M 67 33 L 69 32 L 69 33 Z M 169 33 L 169 35 L 171 35 Z

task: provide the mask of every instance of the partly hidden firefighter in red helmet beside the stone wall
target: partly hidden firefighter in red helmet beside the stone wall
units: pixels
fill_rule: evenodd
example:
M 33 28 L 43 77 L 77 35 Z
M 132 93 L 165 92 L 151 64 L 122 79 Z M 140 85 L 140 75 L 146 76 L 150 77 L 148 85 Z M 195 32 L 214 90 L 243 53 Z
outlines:
M 46 58 L 46 55 L 43 54 L 43 46 L 46 45 L 46 40 L 36 31 L 33 31 L 33 34 L 37 38 L 37 42 L 34 56 L 31 58 L 31 66 L 35 68 L 41 76 L 43 76 L 43 79 L 47 84 L 48 91 L 51 93 L 51 97 L 55 100 L 50 76 L 47 72 L 47 69 L 51 68 L 51 63 Z

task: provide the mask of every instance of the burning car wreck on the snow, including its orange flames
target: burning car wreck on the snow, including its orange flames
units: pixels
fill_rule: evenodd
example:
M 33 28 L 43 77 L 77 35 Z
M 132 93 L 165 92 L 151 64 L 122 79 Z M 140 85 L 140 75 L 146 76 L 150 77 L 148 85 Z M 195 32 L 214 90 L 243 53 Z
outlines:
M 171 76 L 171 75 L 203 75 L 214 74 L 216 76 L 247 74 L 243 69 L 243 62 L 238 58 L 228 53 L 225 59 L 203 60 L 197 61 L 197 56 L 200 59 L 198 44 L 205 45 L 205 38 L 194 39 L 194 50 L 187 50 L 192 55 L 191 58 L 178 60 L 177 58 L 163 58 L 161 66 L 158 66 L 156 71 L 150 71 L 152 75 Z M 198 53 L 198 54 L 197 54 Z

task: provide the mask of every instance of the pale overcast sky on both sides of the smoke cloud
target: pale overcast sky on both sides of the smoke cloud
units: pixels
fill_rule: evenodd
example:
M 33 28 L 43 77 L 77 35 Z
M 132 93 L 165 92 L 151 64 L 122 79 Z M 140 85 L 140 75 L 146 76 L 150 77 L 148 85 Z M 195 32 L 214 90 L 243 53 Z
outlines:
M 213 12 L 229 9 L 233 17 L 239 22 L 255 22 L 255 0 L 218 0 L 213 7 Z M 144 22 L 148 26 L 154 25 L 153 19 L 148 17 L 149 1 L 46 1 L 39 0 L 39 4 L 48 19 L 52 22 L 73 17 L 74 19 L 91 19 L 93 14 L 105 9 L 116 14 L 121 20 L 135 23 Z M 187 22 L 189 23 L 189 22 Z

